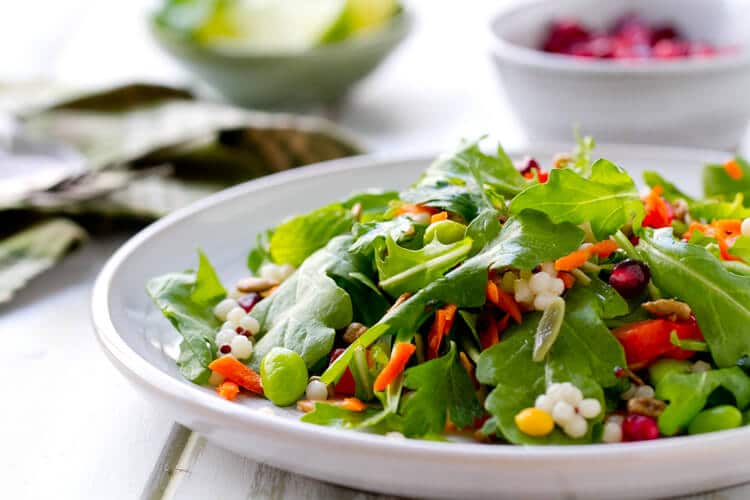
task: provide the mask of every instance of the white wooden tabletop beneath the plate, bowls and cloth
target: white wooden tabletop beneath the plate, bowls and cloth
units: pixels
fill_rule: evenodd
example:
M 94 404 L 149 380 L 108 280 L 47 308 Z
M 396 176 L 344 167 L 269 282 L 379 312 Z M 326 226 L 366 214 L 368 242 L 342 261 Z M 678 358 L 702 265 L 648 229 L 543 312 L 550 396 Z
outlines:
M 0 81 L 182 81 L 146 34 L 150 3 L 14 2 L 0 20 Z M 327 115 L 372 150 L 436 151 L 487 131 L 521 144 L 486 52 L 499 3 L 412 2 L 413 36 Z M 88 311 L 125 237 L 89 244 L 0 306 L 0 497 L 371 498 L 219 449 L 139 398 L 96 345 Z M 695 498 L 748 497 L 750 487 Z

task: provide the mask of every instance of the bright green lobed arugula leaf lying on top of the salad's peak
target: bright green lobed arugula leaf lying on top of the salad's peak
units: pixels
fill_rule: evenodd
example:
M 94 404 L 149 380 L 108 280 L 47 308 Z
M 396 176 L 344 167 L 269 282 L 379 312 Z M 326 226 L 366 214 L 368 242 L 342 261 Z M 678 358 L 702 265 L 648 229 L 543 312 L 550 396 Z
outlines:
M 546 213 L 552 222 L 590 222 L 599 239 L 631 220 L 637 229 L 644 217 L 633 179 L 607 160 L 594 163 L 588 179 L 571 169 L 553 169 L 547 183 L 531 186 L 511 201 L 512 213 L 527 208 Z

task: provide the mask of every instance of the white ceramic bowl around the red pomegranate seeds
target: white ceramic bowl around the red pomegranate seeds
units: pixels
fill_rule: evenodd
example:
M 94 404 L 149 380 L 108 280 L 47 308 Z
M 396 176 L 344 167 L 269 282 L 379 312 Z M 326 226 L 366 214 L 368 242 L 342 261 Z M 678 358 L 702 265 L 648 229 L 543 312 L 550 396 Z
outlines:
M 603 28 L 635 11 L 673 21 L 690 39 L 738 50 L 706 59 L 580 60 L 536 47 L 548 24 Z M 568 140 L 575 125 L 602 142 L 736 148 L 750 118 L 746 0 L 555 0 L 491 21 L 492 57 L 514 114 L 534 140 Z

